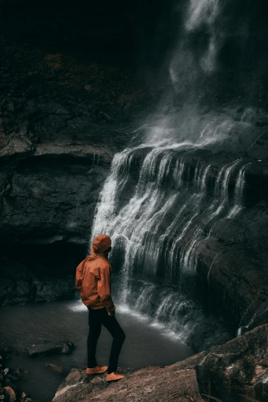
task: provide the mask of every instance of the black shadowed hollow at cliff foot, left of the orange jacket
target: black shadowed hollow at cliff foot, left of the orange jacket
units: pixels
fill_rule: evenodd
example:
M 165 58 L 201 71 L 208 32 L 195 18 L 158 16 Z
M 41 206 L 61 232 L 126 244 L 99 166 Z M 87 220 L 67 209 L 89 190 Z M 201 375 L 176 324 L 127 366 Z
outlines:
M 74 298 L 75 269 L 87 253 L 84 245 L 61 241 L 2 242 L 2 247 L 0 300 L 3 305 Z

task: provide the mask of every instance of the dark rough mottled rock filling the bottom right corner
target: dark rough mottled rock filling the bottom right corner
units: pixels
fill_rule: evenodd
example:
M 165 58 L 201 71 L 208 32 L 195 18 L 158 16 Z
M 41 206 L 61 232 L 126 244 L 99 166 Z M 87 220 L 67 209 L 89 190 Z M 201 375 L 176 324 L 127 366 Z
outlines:
M 201 393 L 222 400 L 240 400 L 238 394 L 267 400 L 267 324 L 244 336 L 208 350 L 196 366 Z

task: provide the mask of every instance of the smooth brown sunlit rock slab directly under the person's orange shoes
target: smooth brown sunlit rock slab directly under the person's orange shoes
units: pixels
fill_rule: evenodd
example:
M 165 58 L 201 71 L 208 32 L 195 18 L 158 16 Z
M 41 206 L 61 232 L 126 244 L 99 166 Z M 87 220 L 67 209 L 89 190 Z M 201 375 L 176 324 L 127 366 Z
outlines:
M 105 374 L 95 378 L 85 374 L 85 370 L 72 369 L 53 401 L 162 402 L 171 395 L 176 398 L 189 395 L 194 397 L 196 402 L 203 400 L 193 368 L 173 365 L 165 368 L 147 367 L 132 374 L 128 374 L 128 370 L 120 370 L 120 373 L 122 372 L 126 377 L 120 382 L 110 384 L 106 382 Z

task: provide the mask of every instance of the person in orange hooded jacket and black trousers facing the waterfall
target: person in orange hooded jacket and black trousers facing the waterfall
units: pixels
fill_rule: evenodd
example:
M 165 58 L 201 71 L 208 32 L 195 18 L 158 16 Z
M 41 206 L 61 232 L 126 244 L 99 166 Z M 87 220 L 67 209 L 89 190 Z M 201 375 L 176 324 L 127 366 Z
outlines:
M 111 298 L 111 265 L 108 253 L 111 239 L 106 235 L 97 236 L 91 253 L 76 268 L 75 286 L 80 290 L 81 300 L 88 308 L 89 334 L 87 339 L 87 374 L 102 374 L 107 371 L 106 380 L 124 378 L 118 374 L 118 358 L 125 340 L 125 334 L 114 316 L 116 308 Z M 113 337 L 109 366 L 99 366 L 95 358 L 98 338 L 102 325 Z

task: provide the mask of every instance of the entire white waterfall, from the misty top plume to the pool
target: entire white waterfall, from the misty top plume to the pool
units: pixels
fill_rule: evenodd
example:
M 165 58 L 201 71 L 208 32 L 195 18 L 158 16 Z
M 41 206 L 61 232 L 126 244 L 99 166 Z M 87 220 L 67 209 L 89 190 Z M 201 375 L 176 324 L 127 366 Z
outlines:
M 187 99 L 200 74 L 216 69 L 220 6 L 219 0 L 187 3 L 169 69 L 172 96 L 184 93 Z M 198 53 L 197 66 L 190 39 L 202 26 L 208 46 Z M 148 120 L 136 130 L 132 145 L 114 156 L 91 238 L 105 233 L 112 239 L 114 288 L 121 308 L 149 317 L 152 325 L 201 350 L 228 334 L 195 298 L 199 254 L 217 237 L 221 220 L 241 213 L 249 164 L 243 147 L 247 149 L 258 132 L 244 114 L 234 118 L 231 108 L 212 113 L 186 101 Z

